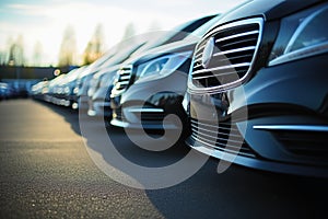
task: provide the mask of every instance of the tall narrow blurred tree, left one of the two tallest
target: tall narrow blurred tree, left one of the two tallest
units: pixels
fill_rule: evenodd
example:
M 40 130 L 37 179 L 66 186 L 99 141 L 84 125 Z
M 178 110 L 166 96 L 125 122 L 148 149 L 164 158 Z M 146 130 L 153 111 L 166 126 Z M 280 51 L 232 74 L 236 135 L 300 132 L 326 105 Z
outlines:
M 67 26 L 59 50 L 59 67 L 75 65 L 77 41 L 75 32 L 71 25 Z

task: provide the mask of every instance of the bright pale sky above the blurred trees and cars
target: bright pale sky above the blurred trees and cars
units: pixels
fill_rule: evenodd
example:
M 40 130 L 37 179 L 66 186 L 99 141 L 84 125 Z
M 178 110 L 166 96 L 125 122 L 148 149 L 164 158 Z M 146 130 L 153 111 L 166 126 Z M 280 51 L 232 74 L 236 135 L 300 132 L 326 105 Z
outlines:
M 95 32 L 104 31 L 105 49 L 119 43 L 133 23 L 136 34 L 169 31 L 186 21 L 216 14 L 245 0 L 1 0 L 0 53 L 23 37 L 24 57 L 33 65 L 35 45 L 42 45 L 42 65 L 56 66 L 65 30 L 70 26 L 81 56 Z

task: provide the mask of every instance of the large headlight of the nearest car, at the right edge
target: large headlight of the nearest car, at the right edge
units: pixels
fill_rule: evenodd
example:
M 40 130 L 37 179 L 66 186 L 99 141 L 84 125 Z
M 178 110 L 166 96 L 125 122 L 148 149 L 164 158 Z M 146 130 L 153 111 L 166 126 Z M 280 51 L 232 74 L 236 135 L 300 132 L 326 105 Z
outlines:
M 327 21 L 327 4 L 283 19 L 269 66 L 328 51 Z

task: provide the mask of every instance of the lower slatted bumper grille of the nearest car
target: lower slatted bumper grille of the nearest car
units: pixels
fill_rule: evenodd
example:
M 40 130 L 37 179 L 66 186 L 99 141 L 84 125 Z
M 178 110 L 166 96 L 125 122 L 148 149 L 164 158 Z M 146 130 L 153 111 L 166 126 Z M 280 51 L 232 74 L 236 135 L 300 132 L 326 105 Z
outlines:
M 222 152 L 255 158 L 253 150 L 244 142 L 236 125 L 230 122 L 211 124 L 191 119 L 191 139 L 202 146 Z

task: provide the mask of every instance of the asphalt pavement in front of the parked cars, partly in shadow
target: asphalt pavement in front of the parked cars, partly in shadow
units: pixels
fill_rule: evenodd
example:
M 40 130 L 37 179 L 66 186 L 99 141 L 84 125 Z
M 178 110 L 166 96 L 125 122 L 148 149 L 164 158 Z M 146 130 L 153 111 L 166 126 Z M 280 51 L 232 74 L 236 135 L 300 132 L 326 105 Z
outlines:
M 90 123 L 102 126 L 99 119 Z M 179 143 L 159 155 L 137 150 L 118 128 L 107 131 L 124 145 L 126 158 L 142 165 L 174 162 L 189 150 Z M 218 174 L 218 160 L 209 159 L 179 184 L 139 189 L 105 174 L 87 141 L 72 110 L 28 99 L 0 102 L 0 218 L 327 217 L 324 178 L 238 165 Z

